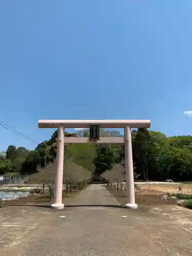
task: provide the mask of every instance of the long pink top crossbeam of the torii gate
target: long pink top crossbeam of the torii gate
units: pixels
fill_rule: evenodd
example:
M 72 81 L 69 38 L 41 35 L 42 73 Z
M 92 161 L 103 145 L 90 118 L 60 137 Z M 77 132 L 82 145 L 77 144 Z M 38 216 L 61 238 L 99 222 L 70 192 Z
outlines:
M 39 128 L 88 128 L 90 125 L 99 125 L 101 128 L 150 128 L 150 120 L 39 120 Z

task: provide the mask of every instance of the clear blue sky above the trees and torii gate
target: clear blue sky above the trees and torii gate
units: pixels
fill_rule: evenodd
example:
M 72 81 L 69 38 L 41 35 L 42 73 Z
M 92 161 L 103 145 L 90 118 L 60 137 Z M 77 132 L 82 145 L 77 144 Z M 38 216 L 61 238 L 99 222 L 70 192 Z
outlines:
M 38 119 L 151 119 L 191 135 L 191 11 L 191 0 L 2 0 L 0 121 L 39 142 L 53 131 Z M 0 127 L 0 151 L 10 144 L 35 148 Z

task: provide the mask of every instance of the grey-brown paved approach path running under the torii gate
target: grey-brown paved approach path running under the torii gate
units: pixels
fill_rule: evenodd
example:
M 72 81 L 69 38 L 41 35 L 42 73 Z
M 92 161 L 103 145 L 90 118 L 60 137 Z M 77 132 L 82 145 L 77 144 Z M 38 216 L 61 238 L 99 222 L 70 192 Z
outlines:
M 19 232 L 18 218 L 26 219 L 26 229 L 30 225 L 31 229 L 3 247 L 0 240 L 0 255 L 191 255 L 190 210 L 177 206 L 174 211 L 171 206 L 139 209 L 118 206 L 102 185 L 90 185 L 62 210 L 23 206 L 27 216 L 22 211 L 23 217 L 14 220 L 15 227 L 11 227 L 10 220 L 3 219 L 8 223 L 7 233 L 11 235 L 13 229 Z M 0 234 L 6 231 L 1 225 Z

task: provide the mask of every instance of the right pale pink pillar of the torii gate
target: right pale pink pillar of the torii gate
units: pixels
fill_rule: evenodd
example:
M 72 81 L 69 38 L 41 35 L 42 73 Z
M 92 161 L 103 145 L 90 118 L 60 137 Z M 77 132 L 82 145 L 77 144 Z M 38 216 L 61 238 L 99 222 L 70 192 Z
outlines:
M 131 208 L 131 209 L 137 209 L 138 205 L 135 203 L 132 137 L 131 137 L 131 128 L 129 126 L 124 127 L 124 152 L 125 152 L 126 193 L 127 193 L 127 203 L 125 204 L 125 207 Z

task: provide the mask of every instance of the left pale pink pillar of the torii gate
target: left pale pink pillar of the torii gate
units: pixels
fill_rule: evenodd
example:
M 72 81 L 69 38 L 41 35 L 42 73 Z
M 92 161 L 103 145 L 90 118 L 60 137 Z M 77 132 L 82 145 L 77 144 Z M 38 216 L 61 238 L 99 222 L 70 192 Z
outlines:
M 63 180 L 63 162 L 64 162 L 64 128 L 59 127 L 57 132 L 57 156 L 56 172 L 54 180 L 54 200 L 51 205 L 55 209 L 63 209 L 62 203 L 62 180 Z

